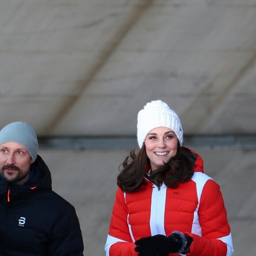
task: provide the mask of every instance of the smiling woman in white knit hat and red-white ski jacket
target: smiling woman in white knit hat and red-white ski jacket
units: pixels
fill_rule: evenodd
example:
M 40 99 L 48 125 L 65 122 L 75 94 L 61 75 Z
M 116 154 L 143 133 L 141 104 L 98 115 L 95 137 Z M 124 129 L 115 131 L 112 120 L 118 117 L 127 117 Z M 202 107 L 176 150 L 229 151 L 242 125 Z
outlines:
M 177 114 L 160 100 L 147 103 L 137 140 L 138 154 L 131 151 L 117 177 L 106 255 L 231 256 L 219 185 L 203 172 L 200 155 L 182 147 Z

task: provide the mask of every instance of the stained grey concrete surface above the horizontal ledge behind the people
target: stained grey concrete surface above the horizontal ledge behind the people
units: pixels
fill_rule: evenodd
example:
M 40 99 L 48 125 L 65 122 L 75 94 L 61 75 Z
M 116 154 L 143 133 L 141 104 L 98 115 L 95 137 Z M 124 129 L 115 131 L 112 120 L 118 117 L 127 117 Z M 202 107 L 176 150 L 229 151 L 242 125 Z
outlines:
M 256 0 L 2 0 L 0 126 L 134 135 L 166 101 L 187 134 L 256 131 Z

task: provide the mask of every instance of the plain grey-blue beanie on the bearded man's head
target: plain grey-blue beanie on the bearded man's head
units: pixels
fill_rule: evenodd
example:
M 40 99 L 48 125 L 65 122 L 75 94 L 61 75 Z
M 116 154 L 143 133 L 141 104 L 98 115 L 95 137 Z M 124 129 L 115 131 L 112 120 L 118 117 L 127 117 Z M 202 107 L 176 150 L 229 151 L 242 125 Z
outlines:
M 23 145 L 31 155 L 33 161 L 36 160 L 38 139 L 32 126 L 24 122 L 13 122 L 4 126 L 0 131 L 0 145 L 10 141 Z

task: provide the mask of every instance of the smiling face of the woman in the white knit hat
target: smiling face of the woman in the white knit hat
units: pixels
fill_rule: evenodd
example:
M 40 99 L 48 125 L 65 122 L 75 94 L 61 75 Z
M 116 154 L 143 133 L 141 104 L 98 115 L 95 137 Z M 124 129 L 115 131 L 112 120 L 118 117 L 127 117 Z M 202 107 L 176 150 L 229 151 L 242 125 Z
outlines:
M 177 153 L 178 139 L 170 128 L 154 128 L 147 134 L 144 143 L 152 171 L 163 166 Z

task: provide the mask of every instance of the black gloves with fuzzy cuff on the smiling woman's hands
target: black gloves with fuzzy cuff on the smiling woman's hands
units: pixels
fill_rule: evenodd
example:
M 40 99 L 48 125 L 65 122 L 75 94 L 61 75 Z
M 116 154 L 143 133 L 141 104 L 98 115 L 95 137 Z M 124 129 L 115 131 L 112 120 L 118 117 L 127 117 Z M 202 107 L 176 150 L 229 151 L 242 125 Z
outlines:
M 169 253 L 187 253 L 193 239 L 183 233 L 174 232 L 169 237 L 155 235 L 143 237 L 135 242 L 139 256 L 165 256 Z

